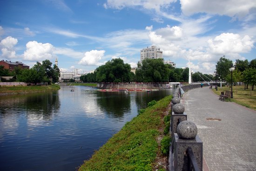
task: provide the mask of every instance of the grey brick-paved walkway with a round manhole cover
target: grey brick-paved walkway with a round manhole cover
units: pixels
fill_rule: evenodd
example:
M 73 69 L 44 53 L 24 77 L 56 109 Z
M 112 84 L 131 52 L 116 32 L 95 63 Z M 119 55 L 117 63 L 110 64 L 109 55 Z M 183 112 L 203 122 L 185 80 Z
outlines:
M 209 87 L 186 92 L 182 103 L 203 142 L 204 171 L 256 171 L 256 111 L 220 101 Z

